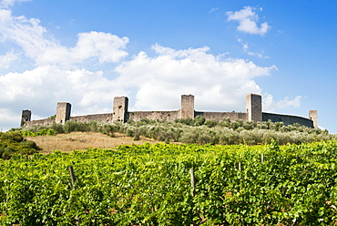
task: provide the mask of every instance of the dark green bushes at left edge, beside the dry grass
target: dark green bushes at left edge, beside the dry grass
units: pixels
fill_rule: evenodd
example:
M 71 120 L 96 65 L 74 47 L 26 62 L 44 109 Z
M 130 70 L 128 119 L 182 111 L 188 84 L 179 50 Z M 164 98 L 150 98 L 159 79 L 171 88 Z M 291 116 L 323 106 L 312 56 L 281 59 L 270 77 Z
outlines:
M 36 153 L 38 147 L 31 140 L 15 132 L 0 132 L 0 159 L 11 159 L 15 154 L 31 155 Z

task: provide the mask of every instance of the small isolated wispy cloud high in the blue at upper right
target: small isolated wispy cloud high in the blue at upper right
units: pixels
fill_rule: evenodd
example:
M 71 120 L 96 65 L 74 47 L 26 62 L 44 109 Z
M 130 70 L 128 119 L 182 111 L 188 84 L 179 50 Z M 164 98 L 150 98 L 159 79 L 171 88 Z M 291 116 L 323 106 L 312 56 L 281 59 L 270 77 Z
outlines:
M 264 22 L 258 26 L 259 15 L 254 12 L 255 8 L 251 6 L 244 6 L 240 11 L 229 11 L 226 13 L 228 15 L 227 20 L 235 20 L 239 22 L 237 29 L 241 32 L 248 33 L 250 35 L 260 35 L 263 36 L 271 29 L 271 26 L 267 22 Z M 262 8 L 260 8 L 262 11 Z

